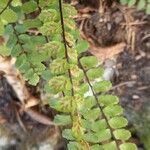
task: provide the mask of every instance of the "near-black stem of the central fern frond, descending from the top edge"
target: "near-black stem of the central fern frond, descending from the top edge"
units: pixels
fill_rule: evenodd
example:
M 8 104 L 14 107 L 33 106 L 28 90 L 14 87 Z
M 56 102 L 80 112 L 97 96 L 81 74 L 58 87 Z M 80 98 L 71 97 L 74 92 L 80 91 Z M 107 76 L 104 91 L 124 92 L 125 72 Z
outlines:
M 64 19 L 63 19 L 63 11 L 62 11 L 62 2 L 61 0 L 59 0 L 59 11 L 60 11 L 60 19 L 61 19 L 61 27 L 62 27 L 62 38 L 63 38 L 63 43 L 64 43 L 64 47 L 65 47 L 65 57 L 67 62 L 69 63 L 69 56 L 68 56 L 68 49 L 67 49 L 67 41 L 66 41 L 66 36 L 65 36 L 65 28 L 64 28 Z M 71 93 L 72 96 L 74 96 L 74 89 L 73 89 L 73 81 L 72 81 L 72 75 L 71 75 L 71 71 L 70 69 L 68 69 L 68 75 L 70 78 L 70 82 L 72 84 L 72 89 L 71 89 Z

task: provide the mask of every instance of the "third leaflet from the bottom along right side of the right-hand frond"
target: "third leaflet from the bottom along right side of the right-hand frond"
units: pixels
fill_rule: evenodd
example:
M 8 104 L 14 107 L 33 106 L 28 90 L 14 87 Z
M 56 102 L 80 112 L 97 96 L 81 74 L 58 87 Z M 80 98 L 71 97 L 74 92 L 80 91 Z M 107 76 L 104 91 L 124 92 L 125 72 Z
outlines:
M 109 120 L 109 124 L 113 129 L 118 129 L 127 126 L 128 121 L 124 117 L 114 117 Z

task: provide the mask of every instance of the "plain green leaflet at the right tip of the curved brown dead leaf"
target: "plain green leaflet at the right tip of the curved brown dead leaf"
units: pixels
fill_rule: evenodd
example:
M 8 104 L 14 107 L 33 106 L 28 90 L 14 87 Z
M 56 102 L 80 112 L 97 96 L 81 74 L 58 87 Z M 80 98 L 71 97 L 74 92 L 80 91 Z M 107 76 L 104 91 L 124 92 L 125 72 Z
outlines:
M 58 125 L 68 125 L 71 123 L 71 117 L 69 115 L 56 115 L 54 123 Z

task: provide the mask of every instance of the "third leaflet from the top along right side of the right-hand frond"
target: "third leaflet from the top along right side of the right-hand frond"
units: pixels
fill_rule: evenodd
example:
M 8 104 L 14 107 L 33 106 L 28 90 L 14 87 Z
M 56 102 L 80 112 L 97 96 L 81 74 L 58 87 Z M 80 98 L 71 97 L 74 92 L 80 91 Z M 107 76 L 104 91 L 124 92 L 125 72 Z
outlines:
M 98 92 L 107 92 L 111 89 L 112 84 L 110 81 L 100 81 L 100 82 L 96 82 L 93 85 L 94 91 L 96 93 Z

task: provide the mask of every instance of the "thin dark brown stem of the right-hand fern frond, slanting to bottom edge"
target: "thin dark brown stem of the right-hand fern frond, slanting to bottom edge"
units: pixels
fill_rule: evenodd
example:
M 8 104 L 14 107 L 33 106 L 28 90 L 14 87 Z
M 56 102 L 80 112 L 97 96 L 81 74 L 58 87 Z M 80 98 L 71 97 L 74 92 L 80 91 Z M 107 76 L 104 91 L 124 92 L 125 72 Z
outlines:
M 109 129 L 110 129 L 111 137 L 114 139 L 114 141 L 115 141 L 115 143 L 116 143 L 117 150 L 119 150 L 119 142 L 118 142 L 118 140 L 115 139 L 115 137 L 114 137 L 114 135 L 113 135 L 113 129 L 111 128 L 111 126 L 110 126 L 109 123 L 108 123 L 108 119 L 107 119 L 107 117 L 106 117 L 106 115 L 105 115 L 105 113 L 104 113 L 102 107 L 101 107 L 100 104 L 99 104 L 98 97 L 97 97 L 97 95 L 96 95 L 96 93 L 95 93 L 95 91 L 94 91 L 94 89 L 93 89 L 93 87 L 92 87 L 92 84 L 90 83 L 90 80 L 89 80 L 89 78 L 88 78 L 88 76 L 87 76 L 87 74 L 86 74 L 86 71 L 85 71 L 84 67 L 82 66 L 80 60 L 79 60 L 79 65 L 80 65 L 81 69 L 83 70 L 84 76 L 85 76 L 85 78 L 86 78 L 86 80 L 87 80 L 87 83 L 88 83 L 89 87 L 91 88 L 92 94 L 93 94 L 93 96 L 94 96 L 94 98 L 95 98 L 95 100 L 96 100 L 96 103 L 97 103 L 97 105 L 98 105 L 98 107 L 99 107 L 99 109 L 100 109 L 100 111 L 101 111 L 101 113 L 102 113 L 102 117 L 106 120 L 106 123 L 107 123 L 107 125 L 108 125 L 108 127 L 109 127 Z

